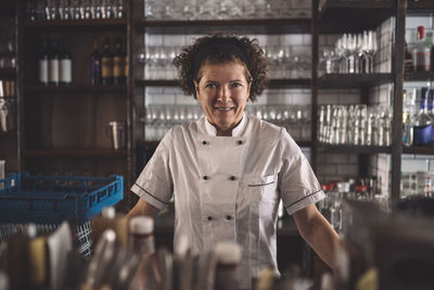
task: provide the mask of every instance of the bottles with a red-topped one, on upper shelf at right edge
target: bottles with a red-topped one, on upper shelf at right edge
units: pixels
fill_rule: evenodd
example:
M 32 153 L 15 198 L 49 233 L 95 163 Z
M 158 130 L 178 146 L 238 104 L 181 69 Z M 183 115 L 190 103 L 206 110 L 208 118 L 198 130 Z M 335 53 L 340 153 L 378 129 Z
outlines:
M 406 73 L 434 71 L 434 43 L 425 37 L 424 26 L 418 26 L 416 43 L 406 47 L 404 66 Z

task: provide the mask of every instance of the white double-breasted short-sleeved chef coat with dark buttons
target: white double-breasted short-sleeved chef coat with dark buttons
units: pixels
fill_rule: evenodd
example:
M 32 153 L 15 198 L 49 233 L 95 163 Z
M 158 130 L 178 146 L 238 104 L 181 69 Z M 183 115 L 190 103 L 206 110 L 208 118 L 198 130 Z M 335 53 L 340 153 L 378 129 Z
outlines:
M 175 196 L 175 241 L 193 252 L 218 241 L 242 247 L 242 287 L 277 270 L 280 199 L 289 214 L 324 198 L 309 162 L 282 127 L 244 114 L 232 137 L 216 136 L 206 117 L 173 127 L 131 190 L 163 209 Z

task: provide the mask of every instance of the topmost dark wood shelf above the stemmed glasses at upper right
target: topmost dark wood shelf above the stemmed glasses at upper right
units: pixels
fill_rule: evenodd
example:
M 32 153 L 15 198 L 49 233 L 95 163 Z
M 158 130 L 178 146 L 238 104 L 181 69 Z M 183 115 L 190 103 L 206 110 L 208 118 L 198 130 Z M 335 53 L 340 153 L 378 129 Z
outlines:
M 319 9 L 319 29 L 323 34 L 360 33 L 373 29 L 394 15 L 394 1 L 328 0 Z

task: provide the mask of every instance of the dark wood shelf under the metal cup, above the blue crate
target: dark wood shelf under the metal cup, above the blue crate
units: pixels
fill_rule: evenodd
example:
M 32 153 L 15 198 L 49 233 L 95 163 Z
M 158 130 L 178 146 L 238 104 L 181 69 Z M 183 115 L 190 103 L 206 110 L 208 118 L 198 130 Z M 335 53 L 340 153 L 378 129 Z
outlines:
M 127 156 L 127 150 L 113 150 L 105 148 L 27 149 L 24 154 L 27 157 L 124 157 Z

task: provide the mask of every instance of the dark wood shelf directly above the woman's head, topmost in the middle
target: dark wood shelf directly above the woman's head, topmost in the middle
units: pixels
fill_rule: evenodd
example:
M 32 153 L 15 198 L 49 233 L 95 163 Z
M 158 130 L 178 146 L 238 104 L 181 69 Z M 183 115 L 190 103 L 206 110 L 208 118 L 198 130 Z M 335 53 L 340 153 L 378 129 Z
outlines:
M 213 30 L 244 33 L 305 33 L 311 30 L 310 18 L 252 18 L 212 21 L 138 21 L 137 27 L 156 34 L 203 34 Z

